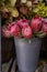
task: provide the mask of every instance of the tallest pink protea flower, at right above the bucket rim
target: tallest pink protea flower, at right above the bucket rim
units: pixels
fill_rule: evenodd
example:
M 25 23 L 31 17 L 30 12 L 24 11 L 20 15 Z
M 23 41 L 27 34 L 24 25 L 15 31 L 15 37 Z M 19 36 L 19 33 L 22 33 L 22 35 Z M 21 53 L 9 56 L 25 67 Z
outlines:
M 36 16 L 31 21 L 31 27 L 33 29 L 33 32 L 38 32 L 42 28 L 42 18 Z

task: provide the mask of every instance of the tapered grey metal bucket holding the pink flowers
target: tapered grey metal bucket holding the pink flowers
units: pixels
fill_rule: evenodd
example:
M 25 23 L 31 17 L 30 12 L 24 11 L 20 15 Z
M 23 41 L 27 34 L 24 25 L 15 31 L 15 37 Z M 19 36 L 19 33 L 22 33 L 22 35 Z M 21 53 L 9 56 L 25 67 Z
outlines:
M 34 72 L 37 66 L 42 41 L 14 38 L 19 72 Z

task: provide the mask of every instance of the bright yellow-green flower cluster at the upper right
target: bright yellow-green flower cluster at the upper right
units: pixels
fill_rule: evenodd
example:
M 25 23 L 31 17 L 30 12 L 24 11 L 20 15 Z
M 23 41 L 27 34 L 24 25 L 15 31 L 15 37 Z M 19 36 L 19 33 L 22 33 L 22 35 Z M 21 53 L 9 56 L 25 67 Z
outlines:
M 37 7 L 33 9 L 33 11 L 42 18 L 47 18 L 47 6 L 45 6 L 43 2 L 39 2 Z

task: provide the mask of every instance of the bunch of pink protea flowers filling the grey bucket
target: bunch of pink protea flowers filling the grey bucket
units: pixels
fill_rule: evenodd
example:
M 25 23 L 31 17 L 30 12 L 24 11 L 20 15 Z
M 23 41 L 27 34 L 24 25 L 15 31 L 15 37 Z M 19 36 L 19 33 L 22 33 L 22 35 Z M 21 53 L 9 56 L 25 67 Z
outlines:
M 31 39 L 32 37 L 34 37 L 34 34 L 38 32 L 47 34 L 47 21 L 43 21 L 43 19 L 38 16 L 35 16 L 31 20 L 20 19 L 16 22 L 10 23 L 10 25 L 8 27 L 8 32 L 12 37 L 25 39 Z

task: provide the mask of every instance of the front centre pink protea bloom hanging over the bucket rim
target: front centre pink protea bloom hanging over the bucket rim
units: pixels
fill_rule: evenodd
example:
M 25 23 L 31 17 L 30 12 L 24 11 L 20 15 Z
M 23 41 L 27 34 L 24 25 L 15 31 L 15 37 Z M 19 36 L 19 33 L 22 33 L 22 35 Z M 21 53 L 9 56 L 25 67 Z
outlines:
M 26 39 L 32 38 L 32 35 L 33 35 L 33 33 L 32 33 L 32 28 L 31 28 L 30 25 L 24 27 L 24 28 L 22 29 L 22 35 L 23 35 L 24 38 L 26 38 Z

